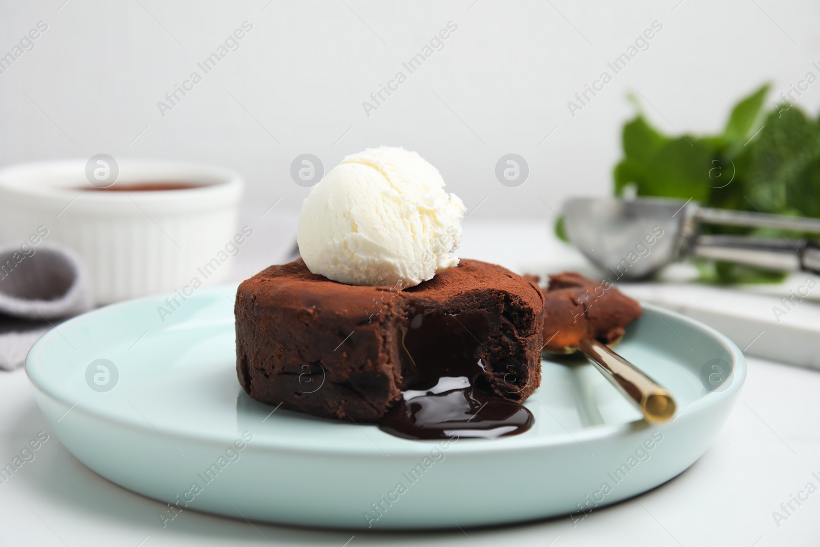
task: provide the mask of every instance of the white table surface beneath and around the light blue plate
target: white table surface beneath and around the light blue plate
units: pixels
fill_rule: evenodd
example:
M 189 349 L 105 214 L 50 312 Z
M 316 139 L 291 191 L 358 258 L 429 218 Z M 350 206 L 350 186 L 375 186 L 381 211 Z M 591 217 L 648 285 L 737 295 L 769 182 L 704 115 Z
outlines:
M 239 255 L 235 276 L 280 260 L 292 244 L 292 217 L 255 222 L 259 237 Z M 515 266 L 516 256 L 548 237 L 544 229 L 522 238 L 521 229 L 474 222 L 465 232 L 462 256 Z M 665 485 L 598 508 L 580 522 L 558 517 L 481 530 L 373 534 L 252 524 L 186 511 L 163 529 L 157 513 L 164 504 L 106 481 L 69 454 L 43 420 L 19 370 L 0 373 L 0 467 L 39 431 L 49 438 L 34 460 L 0 484 L 0 546 L 820 545 L 820 490 L 800 506 L 792 502 L 796 510 L 779 526 L 772 517 L 807 483 L 820 489 L 818 417 L 820 372 L 749 358 L 740 401 L 703 458 Z

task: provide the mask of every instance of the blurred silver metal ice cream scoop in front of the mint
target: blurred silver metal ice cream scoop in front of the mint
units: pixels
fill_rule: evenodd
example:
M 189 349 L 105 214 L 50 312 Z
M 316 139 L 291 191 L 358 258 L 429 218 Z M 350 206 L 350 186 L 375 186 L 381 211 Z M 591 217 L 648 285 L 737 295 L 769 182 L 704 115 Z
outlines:
M 706 223 L 820 234 L 820 219 L 713 209 L 664 198 L 571 198 L 562 217 L 572 244 L 619 279 L 649 276 L 686 256 L 779 271 L 820 271 L 816 241 L 699 233 Z

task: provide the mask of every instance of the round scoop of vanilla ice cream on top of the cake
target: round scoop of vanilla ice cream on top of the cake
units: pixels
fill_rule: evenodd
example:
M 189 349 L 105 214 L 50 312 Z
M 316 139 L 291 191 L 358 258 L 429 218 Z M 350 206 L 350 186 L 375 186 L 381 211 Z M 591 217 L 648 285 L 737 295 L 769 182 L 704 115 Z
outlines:
M 458 266 L 464 212 L 417 153 L 367 148 L 307 195 L 299 252 L 310 271 L 348 285 L 418 285 Z

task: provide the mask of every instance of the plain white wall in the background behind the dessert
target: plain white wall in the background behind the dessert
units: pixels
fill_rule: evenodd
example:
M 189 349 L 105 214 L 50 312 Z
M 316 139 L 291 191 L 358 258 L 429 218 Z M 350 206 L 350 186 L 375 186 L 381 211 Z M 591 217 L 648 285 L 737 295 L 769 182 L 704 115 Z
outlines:
M 64 1 L 0 4 L 0 55 L 48 24 L 0 75 L 0 165 L 95 153 L 213 162 L 245 175 L 248 203 L 284 196 L 282 212 L 307 194 L 289 177 L 298 154 L 327 171 L 392 144 L 437 166 L 468 210 L 487 198 L 476 217 L 549 215 L 539 196 L 558 208 L 610 191 L 629 91 L 669 133 L 712 131 L 758 84 L 777 95 L 820 62 L 818 2 Z M 162 117 L 157 101 L 246 20 L 239 50 Z M 366 116 L 362 101 L 448 21 L 458 30 L 444 49 Z M 572 117 L 567 101 L 653 21 L 663 30 L 650 48 Z M 800 99 L 813 114 L 818 102 L 820 84 Z M 505 153 L 529 162 L 525 185 L 495 179 Z

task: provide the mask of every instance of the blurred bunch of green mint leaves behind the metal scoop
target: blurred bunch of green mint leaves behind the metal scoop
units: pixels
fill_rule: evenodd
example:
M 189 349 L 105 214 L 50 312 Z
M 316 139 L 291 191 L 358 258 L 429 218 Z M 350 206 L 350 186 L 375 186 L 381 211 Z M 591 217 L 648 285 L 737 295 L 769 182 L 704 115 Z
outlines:
M 672 137 L 641 112 L 622 131 L 624 156 L 614 190 L 687 200 L 706 207 L 820 217 L 820 122 L 793 104 L 764 108 L 768 84 L 732 108 L 722 134 Z M 799 237 L 777 230 L 704 226 L 708 234 Z M 811 235 L 818 237 L 818 235 Z M 777 282 L 780 272 L 700 262 L 702 280 L 716 284 Z

